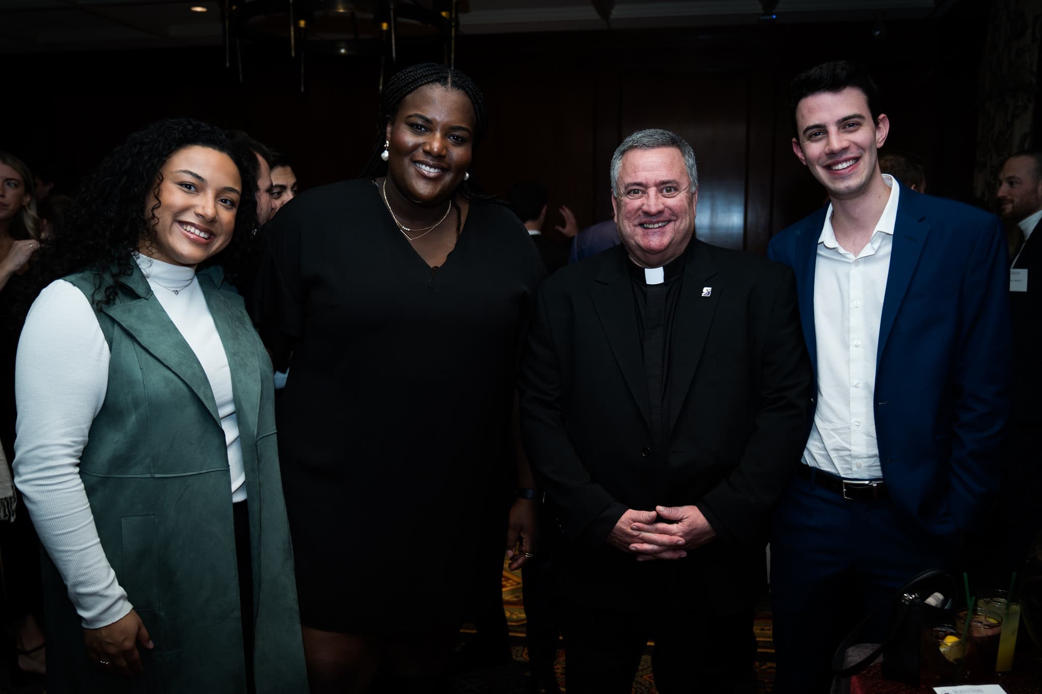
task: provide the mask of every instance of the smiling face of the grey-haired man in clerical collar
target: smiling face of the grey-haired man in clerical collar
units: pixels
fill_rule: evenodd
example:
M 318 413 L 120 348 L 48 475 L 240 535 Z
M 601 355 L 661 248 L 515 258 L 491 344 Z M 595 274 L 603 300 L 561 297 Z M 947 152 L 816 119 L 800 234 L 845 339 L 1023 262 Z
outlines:
M 634 262 L 661 267 L 684 253 L 695 231 L 698 189 L 691 188 L 680 150 L 629 150 L 616 190 L 615 223 Z

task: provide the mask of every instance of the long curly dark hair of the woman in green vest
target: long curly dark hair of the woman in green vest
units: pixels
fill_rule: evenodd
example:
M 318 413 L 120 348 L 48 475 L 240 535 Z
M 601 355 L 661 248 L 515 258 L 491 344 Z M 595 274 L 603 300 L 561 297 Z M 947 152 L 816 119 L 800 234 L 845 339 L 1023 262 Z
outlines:
M 221 265 L 234 278 L 252 257 L 257 226 L 256 176 L 250 164 L 217 127 L 192 119 L 168 119 L 139 130 L 105 157 L 88 177 L 69 206 L 61 224 L 46 238 L 33 258 L 35 277 L 28 283 L 32 297 L 48 283 L 84 268 L 98 272 L 95 307 L 110 304 L 120 277 L 133 274 L 132 253 L 143 239 L 153 238 L 158 222 L 163 164 L 178 150 L 206 147 L 227 154 L 239 169 L 242 197 L 235 212 L 231 241 L 203 266 Z M 146 209 L 147 214 L 142 210 Z

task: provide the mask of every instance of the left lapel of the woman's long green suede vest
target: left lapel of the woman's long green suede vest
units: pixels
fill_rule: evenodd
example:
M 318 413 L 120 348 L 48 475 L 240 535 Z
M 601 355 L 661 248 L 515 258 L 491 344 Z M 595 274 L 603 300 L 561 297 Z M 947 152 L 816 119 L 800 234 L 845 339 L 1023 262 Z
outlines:
M 176 374 L 220 426 L 217 401 L 206 372 L 167 315 L 159 300 L 152 293 L 144 274 L 134 265 L 133 273 L 129 277 L 120 278 L 120 282 L 137 295 L 124 292 L 125 301 L 104 305 L 101 310 L 122 326 L 149 354 Z

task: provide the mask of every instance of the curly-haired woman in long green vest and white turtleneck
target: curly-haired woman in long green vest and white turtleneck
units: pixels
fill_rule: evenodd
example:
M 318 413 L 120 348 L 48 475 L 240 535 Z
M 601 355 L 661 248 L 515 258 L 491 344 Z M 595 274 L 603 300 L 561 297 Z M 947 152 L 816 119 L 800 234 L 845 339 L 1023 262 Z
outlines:
M 306 689 L 271 362 L 228 289 L 250 171 L 219 129 L 155 123 L 44 242 L 61 279 L 19 343 L 15 475 L 51 691 Z

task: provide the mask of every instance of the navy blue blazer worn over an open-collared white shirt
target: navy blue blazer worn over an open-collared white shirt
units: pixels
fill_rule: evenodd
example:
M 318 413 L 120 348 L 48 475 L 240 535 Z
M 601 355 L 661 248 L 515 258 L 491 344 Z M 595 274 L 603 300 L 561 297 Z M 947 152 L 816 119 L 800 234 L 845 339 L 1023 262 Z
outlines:
M 826 210 L 778 233 L 767 252 L 796 274 L 815 377 L 814 271 Z M 875 430 L 895 505 L 939 535 L 979 529 L 998 490 L 1011 362 L 1007 255 L 998 217 L 900 188 Z

